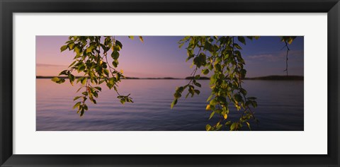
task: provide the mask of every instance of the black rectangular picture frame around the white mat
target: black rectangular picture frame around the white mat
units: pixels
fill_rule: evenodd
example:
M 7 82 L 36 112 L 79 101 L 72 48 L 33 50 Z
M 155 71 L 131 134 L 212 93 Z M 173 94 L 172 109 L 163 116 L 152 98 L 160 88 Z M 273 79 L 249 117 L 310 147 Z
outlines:
M 339 0 L 1 0 L 0 166 L 339 166 Z M 328 13 L 327 155 L 13 154 L 13 13 Z M 326 109 L 325 109 L 326 110 Z M 326 130 L 326 129 L 325 129 Z

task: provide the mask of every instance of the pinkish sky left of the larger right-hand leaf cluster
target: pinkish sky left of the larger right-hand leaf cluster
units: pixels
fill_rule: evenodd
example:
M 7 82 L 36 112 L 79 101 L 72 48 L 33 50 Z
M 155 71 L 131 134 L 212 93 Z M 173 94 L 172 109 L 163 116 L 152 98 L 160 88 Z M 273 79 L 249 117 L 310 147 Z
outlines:
M 189 68 L 191 63 L 185 62 L 186 50 L 179 49 L 177 39 L 173 40 L 174 45 L 166 46 L 168 50 L 172 50 L 171 52 L 164 52 L 157 45 L 157 41 L 148 38 L 144 38 L 144 42 L 138 39 L 130 40 L 128 37 L 116 39 L 123 43 L 118 69 L 123 69 L 125 76 L 184 78 L 193 70 Z M 37 76 L 57 76 L 73 62 L 73 51 L 60 52 L 60 47 L 67 40 L 68 36 L 36 37 Z M 174 59 L 164 59 L 164 57 L 174 57 Z

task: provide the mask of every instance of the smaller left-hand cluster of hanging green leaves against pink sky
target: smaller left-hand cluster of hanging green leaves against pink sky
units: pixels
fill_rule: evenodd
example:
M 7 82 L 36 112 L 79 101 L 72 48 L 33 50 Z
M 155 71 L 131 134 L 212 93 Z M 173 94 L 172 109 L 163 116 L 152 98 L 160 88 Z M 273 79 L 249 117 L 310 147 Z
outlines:
M 129 38 L 133 39 L 133 36 L 129 36 Z M 143 38 L 139 38 L 143 42 Z M 123 71 L 116 69 L 119 64 L 120 50 L 123 48 L 120 41 L 111 36 L 104 36 L 103 39 L 101 36 L 70 36 L 65 44 L 60 47 L 60 51 L 73 50 L 74 62 L 69 65 L 68 69 L 60 72 L 59 76 L 62 77 L 55 77 L 52 81 L 62 84 L 65 81 L 63 77 L 66 76 L 72 85 L 74 81 L 81 84 L 77 91 L 81 91 L 81 95 L 74 98 L 74 101 L 77 102 L 73 107 L 77 109 L 80 116 L 84 115 L 85 110 L 88 110 L 86 100 L 89 99 L 96 104 L 101 84 L 106 84 L 110 89 L 113 88 L 118 94 L 117 98 L 120 99 L 120 103 L 133 103 L 130 94 L 124 96 L 118 92 L 118 84 L 125 77 Z M 108 61 L 110 55 L 111 62 Z M 72 74 L 74 71 L 82 76 L 76 79 Z

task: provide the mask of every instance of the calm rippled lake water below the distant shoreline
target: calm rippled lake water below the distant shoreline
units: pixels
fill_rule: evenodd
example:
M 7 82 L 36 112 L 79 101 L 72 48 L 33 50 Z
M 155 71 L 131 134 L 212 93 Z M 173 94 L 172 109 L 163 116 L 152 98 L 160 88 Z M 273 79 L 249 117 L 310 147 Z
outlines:
M 123 80 L 121 94 L 131 93 L 135 103 L 120 104 L 115 91 L 102 86 L 97 104 L 89 101 L 89 110 L 79 117 L 73 110 L 78 86 L 68 81 L 55 84 L 50 79 L 37 79 L 37 130 L 205 130 L 205 110 L 210 96 L 209 81 L 200 81 L 200 96 L 181 98 L 170 110 L 176 86 L 188 80 Z M 257 97 L 255 109 L 259 125 L 252 130 L 303 130 L 303 81 L 244 81 L 249 96 Z M 185 94 L 183 94 L 185 96 Z M 229 118 L 239 117 L 231 110 Z

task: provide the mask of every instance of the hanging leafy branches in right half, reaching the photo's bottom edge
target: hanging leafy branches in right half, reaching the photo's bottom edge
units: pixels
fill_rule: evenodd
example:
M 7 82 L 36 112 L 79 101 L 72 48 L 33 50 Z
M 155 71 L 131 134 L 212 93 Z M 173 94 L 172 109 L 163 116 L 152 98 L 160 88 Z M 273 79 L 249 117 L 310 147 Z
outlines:
M 247 91 L 242 88 L 242 79 L 246 76 L 244 69 L 244 59 L 242 58 L 242 45 L 246 45 L 246 38 L 250 40 L 258 39 L 259 36 L 186 36 L 179 41 L 179 47 L 186 47 L 188 57 L 195 67 L 191 74 L 191 81 L 184 86 L 176 88 L 174 101 L 171 108 L 178 103 L 183 91 L 187 90 L 186 98 L 200 94 L 197 89 L 201 85 L 198 83 L 201 75 L 210 76 L 211 95 L 207 99 L 208 105 L 205 110 L 209 110 L 210 117 L 217 115 L 220 119 L 215 125 L 206 125 L 206 130 L 240 130 L 243 126 L 250 127 L 249 120 L 259 122 L 252 108 L 257 107 L 255 97 L 247 96 Z M 281 37 L 281 40 L 290 44 L 295 37 Z M 287 46 L 288 48 L 288 46 Z M 289 49 L 288 49 L 289 51 Z M 288 52 L 287 52 L 288 56 Z M 198 71 L 198 69 L 201 69 Z M 197 73 L 200 74 L 197 74 Z M 239 111 L 239 118 L 228 119 L 230 108 Z

